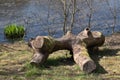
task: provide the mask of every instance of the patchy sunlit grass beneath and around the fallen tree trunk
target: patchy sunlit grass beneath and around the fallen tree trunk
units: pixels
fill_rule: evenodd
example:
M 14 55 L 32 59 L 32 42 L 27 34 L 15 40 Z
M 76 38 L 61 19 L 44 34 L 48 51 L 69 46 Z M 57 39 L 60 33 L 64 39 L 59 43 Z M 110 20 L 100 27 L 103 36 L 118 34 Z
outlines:
M 67 55 L 66 55 L 67 54 Z M 24 42 L 0 45 L 0 80 L 119 80 L 120 46 L 105 44 L 91 55 L 97 68 L 91 74 L 82 72 L 70 59 L 68 51 L 51 54 L 41 66 L 29 64 L 32 50 Z

